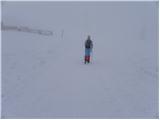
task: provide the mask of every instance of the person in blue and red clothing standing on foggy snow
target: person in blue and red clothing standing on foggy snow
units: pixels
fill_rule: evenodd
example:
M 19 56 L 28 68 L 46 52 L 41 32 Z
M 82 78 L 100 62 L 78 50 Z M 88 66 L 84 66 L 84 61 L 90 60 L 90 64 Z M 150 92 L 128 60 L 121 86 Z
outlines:
M 93 48 L 93 42 L 91 40 L 91 37 L 88 36 L 87 40 L 85 41 L 85 58 L 84 63 L 90 63 L 90 54 L 92 52 Z

